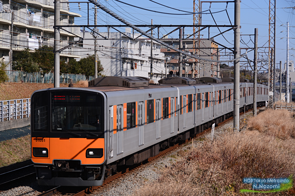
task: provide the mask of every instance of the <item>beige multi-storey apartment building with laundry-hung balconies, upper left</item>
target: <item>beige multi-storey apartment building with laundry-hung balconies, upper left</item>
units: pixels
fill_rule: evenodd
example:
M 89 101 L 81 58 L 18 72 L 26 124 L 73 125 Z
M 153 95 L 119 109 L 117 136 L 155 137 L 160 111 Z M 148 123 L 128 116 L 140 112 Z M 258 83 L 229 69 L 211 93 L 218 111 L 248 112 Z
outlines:
M 2 0 L 0 1 L 0 60 L 9 61 L 11 30 L 13 31 L 13 52 L 42 45 L 54 44 L 54 1 L 53 0 Z M 61 0 L 60 2 L 68 2 Z M 13 29 L 11 29 L 13 17 Z M 75 17 L 81 15 L 71 12 L 67 3 L 60 4 L 60 25 L 73 25 Z M 60 30 L 60 48 L 68 46 L 80 28 L 67 27 L 68 33 Z M 60 58 L 79 58 L 75 47 L 67 48 L 60 53 Z

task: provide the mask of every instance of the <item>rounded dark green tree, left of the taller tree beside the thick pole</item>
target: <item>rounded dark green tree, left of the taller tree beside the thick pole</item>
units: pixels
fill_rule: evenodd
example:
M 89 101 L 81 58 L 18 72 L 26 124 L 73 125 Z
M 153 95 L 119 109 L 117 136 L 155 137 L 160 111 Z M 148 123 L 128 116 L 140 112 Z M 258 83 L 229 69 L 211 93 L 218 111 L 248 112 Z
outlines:
M 29 48 L 17 53 L 14 56 L 15 61 L 12 62 L 12 68 L 18 71 L 24 71 L 28 73 L 33 73 L 39 71 L 39 66 L 34 61 L 32 52 Z

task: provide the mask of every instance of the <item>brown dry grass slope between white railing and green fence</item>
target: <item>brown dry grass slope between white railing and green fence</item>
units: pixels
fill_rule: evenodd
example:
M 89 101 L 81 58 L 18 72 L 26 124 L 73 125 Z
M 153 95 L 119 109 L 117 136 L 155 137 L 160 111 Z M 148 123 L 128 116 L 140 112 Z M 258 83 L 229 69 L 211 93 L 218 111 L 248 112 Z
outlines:
M 74 87 L 87 87 L 88 81 L 79 81 Z M 68 84 L 60 84 L 60 87 L 68 87 Z M 53 84 L 42 83 L 0 83 L 0 100 L 30 98 L 34 91 L 53 88 Z

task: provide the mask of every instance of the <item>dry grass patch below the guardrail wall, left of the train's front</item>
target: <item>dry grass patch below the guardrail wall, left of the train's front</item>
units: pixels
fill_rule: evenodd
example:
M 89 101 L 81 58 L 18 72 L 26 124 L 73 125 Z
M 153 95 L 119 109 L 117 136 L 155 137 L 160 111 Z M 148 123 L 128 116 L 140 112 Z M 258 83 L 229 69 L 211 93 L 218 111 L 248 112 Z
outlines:
M 0 167 L 31 158 L 31 135 L 0 142 Z

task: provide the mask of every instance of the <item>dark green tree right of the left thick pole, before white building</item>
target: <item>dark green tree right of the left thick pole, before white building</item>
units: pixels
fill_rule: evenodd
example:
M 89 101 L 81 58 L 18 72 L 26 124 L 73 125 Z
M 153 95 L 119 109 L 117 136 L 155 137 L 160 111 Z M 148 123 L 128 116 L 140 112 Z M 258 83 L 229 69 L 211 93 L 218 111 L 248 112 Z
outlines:
M 86 78 L 89 79 L 89 76 L 94 77 L 94 55 L 89 55 L 86 58 L 81 58 L 79 61 L 81 65 L 81 73 L 85 74 Z M 101 65 L 100 60 L 97 58 L 97 73 L 104 71 L 104 68 Z

